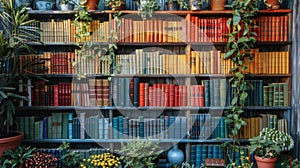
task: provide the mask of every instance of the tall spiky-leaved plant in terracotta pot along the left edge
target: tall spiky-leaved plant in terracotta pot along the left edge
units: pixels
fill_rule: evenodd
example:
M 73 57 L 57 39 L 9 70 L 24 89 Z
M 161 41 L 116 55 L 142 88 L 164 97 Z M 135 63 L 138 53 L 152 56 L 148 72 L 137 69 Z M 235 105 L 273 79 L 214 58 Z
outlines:
M 26 99 L 16 94 L 21 76 L 18 74 L 18 56 L 22 51 L 32 52 L 26 41 L 38 41 L 40 29 L 31 26 L 26 7 L 15 8 L 14 0 L 1 0 L 0 12 L 0 155 L 20 145 L 23 133 L 14 132 L 15 103 Z

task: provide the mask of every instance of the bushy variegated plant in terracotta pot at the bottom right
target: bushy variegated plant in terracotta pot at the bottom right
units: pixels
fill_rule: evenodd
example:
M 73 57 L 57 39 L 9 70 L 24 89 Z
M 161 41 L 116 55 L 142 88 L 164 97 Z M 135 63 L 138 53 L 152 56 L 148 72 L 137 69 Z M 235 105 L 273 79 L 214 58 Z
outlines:
M 275 167 L 278 156 L 294 146 L 294 141 L 289 134 L 273 128 L 263 128 L 257 137 L 249 141 L 250 152 L 255 155 L 258 168 L 265 168 L 267 165 Z

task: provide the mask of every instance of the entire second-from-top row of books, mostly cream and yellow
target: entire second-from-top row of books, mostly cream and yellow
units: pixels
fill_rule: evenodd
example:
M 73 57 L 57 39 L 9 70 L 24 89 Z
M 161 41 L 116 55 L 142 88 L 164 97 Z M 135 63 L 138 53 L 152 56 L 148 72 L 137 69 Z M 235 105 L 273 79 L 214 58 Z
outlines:
M 44 52 L 39 55 L 19 57 L 20 73 L 23 74 L 107 74 L 108 60 L 102 59 L 95 50 L 85 51 L 89 57 L 74 52 Z M 253 51 L 248 63 L 252 74 L 288 74 L 289 52 Z M 76 62 L 76 66 L 72 64 Z M 230 59 L 224 60 L 220 50 L 191 51 L 190 54 L 163 54 L 136 49 L 134 54 L 116 55 L 116 64 L 121 74 L 228 74 L 234 67 Z

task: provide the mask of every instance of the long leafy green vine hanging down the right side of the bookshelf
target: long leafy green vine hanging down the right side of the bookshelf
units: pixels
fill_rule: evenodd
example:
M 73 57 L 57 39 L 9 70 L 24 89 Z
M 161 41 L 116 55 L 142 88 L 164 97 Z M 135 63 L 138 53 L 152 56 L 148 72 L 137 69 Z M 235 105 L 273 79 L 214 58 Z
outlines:
M 229 79 L 231 88 L 235 90 L 234 97 L 231 100 L 229 109 L 226 110 L 225 122 L 229 125 L 232 142 L 226 142 L 221 145 L 225 157 L 227 156 L 228 167 L 234 166 L 234 154 L 230 155 L 230 151 L 236 151 L 239 140 L 237 135 L 242 126 L 246 122 L 242 119 L 241 115 L 244 113 L 244 106 L 247 100 L 247 90 L 252 86 L 245 81 L 247 64 L 251 61 L 252 57 L 250 50 L 256 43 L 256 32 L 254 31 L 254 19 L 258 12 L 259 0 L 234 0 L 232 4 L 228 5 L 233 9 L 232 18 L 227 22 L 227 27 L 230 30 L 228 34 L 228 42 L 226 44 L 227 52 L 224 59 L 231 59 L 235 67 L 230 72 L 233 77 Z

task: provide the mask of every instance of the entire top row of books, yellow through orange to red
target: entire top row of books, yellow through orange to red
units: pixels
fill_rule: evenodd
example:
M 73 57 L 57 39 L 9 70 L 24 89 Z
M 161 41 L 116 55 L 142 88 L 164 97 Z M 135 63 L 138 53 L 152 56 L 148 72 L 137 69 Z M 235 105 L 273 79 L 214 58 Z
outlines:
M 151 19 L 134 20 L 121 18 L 117 29 L 119 42 L 227 42 L 229 33 L 228 17 L 200 18 L 191 16 L 189 20 Z M 256 20 L 257 41 L 288 41 L 288 16 L 261 16 Z M 42 42 L 108 42 L 110 30 L 116 26 L 114 21 L 93 20 L 88 25 L 89 36 L 74 38 L 77 32 L 70 19 L 41 21 L 35 24 L 43 30 Z M 80 26 L 80 23 L 79 23 Z

